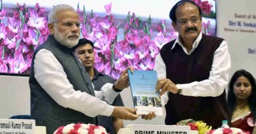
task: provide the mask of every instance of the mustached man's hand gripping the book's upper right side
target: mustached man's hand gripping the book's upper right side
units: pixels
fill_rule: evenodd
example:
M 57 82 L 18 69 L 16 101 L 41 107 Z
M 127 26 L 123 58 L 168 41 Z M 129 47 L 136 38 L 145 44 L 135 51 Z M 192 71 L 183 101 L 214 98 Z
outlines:
M 158 84 L 156 86 L 156 90 L 161 90 L 160 96 L 163 95 L 165 92 L 171 92 L 171 93 L 178 92 L 177 86 L 168 78 L 159 79 Z

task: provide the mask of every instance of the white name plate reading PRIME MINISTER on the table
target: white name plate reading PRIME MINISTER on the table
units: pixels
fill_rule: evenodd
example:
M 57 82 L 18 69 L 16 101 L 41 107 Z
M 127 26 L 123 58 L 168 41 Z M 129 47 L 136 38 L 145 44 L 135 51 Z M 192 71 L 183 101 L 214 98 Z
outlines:
M 191 131 L 190 126 L 129 124 L 117 134 L 198 134 L 198 131 Z

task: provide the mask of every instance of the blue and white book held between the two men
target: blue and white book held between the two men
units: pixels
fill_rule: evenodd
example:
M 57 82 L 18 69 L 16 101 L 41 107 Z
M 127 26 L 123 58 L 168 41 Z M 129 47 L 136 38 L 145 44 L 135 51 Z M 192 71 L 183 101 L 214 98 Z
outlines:
M 137 108 L 137 114 L 155 112 L 163 115 L 159 92 L 156 92 L 158 76 L 156 71 L 128 71 L 133 105 Z

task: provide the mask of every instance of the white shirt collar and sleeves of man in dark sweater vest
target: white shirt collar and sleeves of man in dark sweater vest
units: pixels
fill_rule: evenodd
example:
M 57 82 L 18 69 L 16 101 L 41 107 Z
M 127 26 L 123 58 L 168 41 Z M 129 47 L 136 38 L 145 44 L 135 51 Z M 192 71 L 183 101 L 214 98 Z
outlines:
M 179 37 L 176 39 L 175 43 L 173 44 L 174 48 L 175 45 L 179 44 L 182 46 L 182 50 L 187 54 L 190 55 L 194 50 L 198 47 L 199 42 L 202 39 L 202 33 L 198 35 L 196 41 L 194 41 L 192 45 L 192 50 L 187 52 L 186 48 L 182 45 Z M 226 41 L 221 42 L 219 48 L 214 52 L 213 56 L 213 65 L 211 66 L 211 71 L 209 74 L 209 78 L 202 80 L 202 81 L 194 81 L 187 84 L 181 84 L 182 88 L 182 95 L 187 96 L 202 96 L 202 97 L 216 97 L 223 93 L 226 85 L 228 84 L 228 71 L 231 67 L 231 60 L 230 54 L 228 52 L 228 44 Z M 166 68 L 161 55 L 158 54 L 156 56 L 156 63 L 154 70 L 158 73 L 158 78 L 166 78 Z M 179 83 L 177 83 L 179 84 Z M 165 104 L 168 101 L 168 95 L 165 93 L 163 96 Z

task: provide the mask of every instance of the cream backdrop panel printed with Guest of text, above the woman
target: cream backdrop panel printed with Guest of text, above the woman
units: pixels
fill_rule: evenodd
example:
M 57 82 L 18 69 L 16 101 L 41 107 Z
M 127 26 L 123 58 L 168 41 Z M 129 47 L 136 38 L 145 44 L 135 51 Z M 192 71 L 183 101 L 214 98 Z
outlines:
M 230 77 L 245 69 L 256 77 L 256 1 L 217 1 L 217 35 L 228 42 Z

